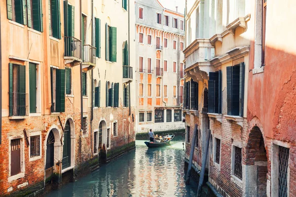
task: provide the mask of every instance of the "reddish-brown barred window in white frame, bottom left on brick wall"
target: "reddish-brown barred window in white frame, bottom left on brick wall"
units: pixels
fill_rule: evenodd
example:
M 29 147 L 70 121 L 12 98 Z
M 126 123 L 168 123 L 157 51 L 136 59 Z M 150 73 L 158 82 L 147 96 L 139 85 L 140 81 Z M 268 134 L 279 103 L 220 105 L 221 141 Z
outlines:
M 11 140 L 10 147 L 11 147 L 10 176 L 13 176 L 21 173 L 21 139 Z

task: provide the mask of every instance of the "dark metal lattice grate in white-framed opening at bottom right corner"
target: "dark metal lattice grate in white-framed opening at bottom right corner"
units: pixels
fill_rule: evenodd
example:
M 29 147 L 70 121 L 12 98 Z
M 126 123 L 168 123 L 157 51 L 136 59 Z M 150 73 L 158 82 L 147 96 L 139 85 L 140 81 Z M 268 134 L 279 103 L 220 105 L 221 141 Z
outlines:
M 288 165 L 290 149 L 279 146 L 279 197 L 288 196 Z

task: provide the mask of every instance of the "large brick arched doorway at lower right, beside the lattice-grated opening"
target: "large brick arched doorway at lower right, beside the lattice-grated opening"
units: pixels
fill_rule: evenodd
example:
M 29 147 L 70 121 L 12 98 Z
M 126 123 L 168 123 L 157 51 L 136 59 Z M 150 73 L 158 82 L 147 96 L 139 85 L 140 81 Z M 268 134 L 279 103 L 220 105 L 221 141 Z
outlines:
M 258 126 L 254 126 L 246 146 L 246 177 L 254 187 L 246 188 L 246 196 L 266 197 L 267 153 L 264 139 Z

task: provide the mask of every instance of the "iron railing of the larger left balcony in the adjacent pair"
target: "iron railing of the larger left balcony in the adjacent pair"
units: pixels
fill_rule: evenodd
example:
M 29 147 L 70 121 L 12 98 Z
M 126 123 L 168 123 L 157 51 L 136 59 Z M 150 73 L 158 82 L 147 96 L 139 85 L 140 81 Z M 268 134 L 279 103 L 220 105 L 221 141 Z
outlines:
M 74 37 L 65 38 L 65 57 L 81 59 L 81 40 Z

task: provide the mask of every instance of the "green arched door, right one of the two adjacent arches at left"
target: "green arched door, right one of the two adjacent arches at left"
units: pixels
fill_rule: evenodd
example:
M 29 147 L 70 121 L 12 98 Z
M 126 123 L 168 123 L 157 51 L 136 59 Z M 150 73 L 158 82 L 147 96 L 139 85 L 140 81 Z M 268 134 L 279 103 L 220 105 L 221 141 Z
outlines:
M 67 120 L 64 128 L 62 169 L 70 167 L 70 165 L 71 165 L 71 128 L 70 128 L 70 122 L 69 120 Z

